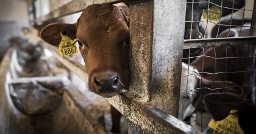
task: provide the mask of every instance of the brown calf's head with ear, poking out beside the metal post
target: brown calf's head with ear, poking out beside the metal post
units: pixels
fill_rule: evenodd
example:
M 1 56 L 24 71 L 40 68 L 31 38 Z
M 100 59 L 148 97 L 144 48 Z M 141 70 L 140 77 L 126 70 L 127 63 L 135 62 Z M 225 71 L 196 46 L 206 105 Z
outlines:
M 40 33 L 58 46 L 60 33 L 76 39 L 87 69 L 90 91 L 112 97 L 129 80 L 129 8 L 109 4 L 87 7 L 75 24 L 53 23 Z

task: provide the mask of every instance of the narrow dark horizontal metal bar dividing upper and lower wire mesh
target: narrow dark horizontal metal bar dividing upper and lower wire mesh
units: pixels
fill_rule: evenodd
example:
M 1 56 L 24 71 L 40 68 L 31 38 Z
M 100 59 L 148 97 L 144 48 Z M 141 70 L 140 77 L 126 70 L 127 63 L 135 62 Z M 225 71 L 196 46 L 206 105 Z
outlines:
M 256 37 L 210 38 L 184 40 L 183 49 L 208 48 L 213 46 L 230 46 L 240 44 L 256 44 Z

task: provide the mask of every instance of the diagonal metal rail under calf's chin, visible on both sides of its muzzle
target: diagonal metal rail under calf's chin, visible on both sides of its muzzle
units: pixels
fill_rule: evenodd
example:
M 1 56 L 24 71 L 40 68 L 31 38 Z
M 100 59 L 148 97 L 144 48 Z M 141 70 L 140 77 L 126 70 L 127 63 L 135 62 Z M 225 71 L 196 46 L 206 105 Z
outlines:
M 57 48 L 49 45 L 46 46 L 50 49 L 57 60 L 77 74 L 77 76 L 84 80 L 85 83 L 88 83 L 88 74 L 85 71 L 85 68 L 81 68 L 81 65 L 77 65 L 77 63 L 72 62 L 67 57 L 60 57 L 57 52 Z M 141 127 L 144 132 L 199 133 L 190 125 L 185 124 L 174 116 L 168 115 L 167 113 L 147 103 L 137 102 L 134 98 L 138 96 L 132 95 L 133 94 L 130 93 L 117 94 L 114 97 L 107 98 L 107 101 L 135 125 Z

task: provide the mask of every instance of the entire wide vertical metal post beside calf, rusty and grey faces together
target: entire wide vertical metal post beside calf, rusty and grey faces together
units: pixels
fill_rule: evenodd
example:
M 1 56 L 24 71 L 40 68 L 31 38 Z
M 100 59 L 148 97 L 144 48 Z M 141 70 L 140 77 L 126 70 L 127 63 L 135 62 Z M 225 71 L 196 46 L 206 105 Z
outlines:
M 155 107 L 178 115 L 185 0 L 130 3 L 129 91 Z M 130 127 L 132 127 L 130 125 Z

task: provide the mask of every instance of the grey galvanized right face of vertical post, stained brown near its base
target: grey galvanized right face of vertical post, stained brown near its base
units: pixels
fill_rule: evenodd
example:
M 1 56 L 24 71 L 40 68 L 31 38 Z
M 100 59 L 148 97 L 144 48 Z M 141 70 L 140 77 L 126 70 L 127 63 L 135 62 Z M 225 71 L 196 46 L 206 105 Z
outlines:
M 185 0 L 154 1 L 151 104 L 175 117 L 179 110 L 185 9 Z

